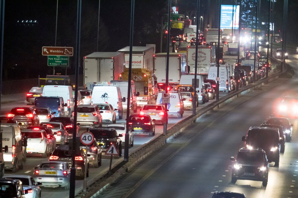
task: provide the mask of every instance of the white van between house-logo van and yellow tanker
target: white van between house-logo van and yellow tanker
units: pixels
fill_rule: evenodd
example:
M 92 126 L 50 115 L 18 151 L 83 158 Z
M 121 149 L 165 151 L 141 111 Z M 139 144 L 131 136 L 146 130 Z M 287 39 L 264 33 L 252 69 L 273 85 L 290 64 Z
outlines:
M 112 85 L 119 86 L 121 91 L 121 96 L 126 98 L 125 102 L 122 102 L 123 109 L 127 109 L 127 90 L 128 90 L 128 81 L 123 80 L 113 80 L 110 81 Z M 134 82 L 131 81 L 131 89 L 130 89 L 130 114 L 137 112 L 137 92 L 136 87 L 134 86 Z

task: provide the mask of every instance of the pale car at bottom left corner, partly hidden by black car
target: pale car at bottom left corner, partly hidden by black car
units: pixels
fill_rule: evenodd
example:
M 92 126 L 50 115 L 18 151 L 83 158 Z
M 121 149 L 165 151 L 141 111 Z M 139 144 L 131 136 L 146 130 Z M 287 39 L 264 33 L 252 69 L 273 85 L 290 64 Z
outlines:
M 23 184 L 23 190 L 28 190 L 28 194 L 25 194 L 25 198 L 40 198 L 42 185 L 40 182 L 35 182 L 34 178 L 30 175 L 9 175 L 5 176 L 9 179 L 19 179 Z

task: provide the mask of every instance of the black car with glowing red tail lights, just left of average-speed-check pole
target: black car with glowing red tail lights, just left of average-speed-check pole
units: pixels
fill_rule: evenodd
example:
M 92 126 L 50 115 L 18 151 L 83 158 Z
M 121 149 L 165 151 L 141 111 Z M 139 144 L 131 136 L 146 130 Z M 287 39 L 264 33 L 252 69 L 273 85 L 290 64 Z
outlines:
M 155 119 L 147 114 L 132 114 L 129 116 L 129 128 L 133 133 L 147 133 L 149 136 L 155 135 Z

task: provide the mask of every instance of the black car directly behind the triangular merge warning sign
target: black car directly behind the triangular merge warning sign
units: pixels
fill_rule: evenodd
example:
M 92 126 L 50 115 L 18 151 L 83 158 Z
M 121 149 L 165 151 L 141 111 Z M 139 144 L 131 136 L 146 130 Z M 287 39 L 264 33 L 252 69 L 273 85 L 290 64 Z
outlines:
M 119 152 L 119 156 L 114 157 L 119 158 L 122 156 L 122 141 L 119 138 L 122 137 L 122 134 L 118 135 L 115 129 L 107 127 L 94 127 L 90 128 L 89 131 L 94 135 L 102 152 L 106 152 L 110 145 L 114 143 Z

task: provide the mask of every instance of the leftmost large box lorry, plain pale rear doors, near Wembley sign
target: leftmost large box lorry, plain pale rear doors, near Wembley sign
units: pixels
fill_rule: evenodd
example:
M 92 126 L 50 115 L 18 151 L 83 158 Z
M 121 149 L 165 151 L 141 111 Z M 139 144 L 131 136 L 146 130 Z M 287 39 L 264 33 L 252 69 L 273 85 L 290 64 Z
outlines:
M 123 70 L 123 52 L 93 52 L 84 56 L 84 86 L 93 90 L 97 82 L 117 80 Z

